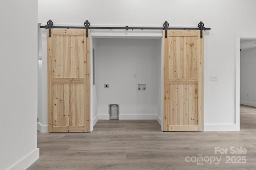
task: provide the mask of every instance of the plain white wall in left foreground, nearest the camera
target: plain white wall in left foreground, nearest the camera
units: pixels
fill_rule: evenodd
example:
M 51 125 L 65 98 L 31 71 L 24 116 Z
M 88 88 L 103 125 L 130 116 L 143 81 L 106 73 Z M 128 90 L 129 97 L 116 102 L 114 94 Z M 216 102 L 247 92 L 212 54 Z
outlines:
M 24 170 L 37 148 L 37 1 L 0 1 L 0 169 Z

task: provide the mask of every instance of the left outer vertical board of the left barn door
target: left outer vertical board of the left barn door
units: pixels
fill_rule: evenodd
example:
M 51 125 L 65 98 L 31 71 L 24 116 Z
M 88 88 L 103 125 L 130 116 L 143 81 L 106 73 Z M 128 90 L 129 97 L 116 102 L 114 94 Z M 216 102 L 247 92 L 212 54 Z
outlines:
M 49 30 L 47 29 L 47 35 Z M 48 68 L 48 132 L 52 132 L 53 129 L 53 105 L 52 105 L 52 81 L 53 81 L 53 69 L 52 69 L 52 37 L 47 37 L 47 68 Z

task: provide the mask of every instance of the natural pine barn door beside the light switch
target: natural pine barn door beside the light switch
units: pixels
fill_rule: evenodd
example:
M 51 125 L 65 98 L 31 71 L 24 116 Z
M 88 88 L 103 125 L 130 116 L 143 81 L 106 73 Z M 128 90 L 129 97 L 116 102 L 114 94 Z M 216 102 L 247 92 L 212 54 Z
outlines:
M 164 42 L 164 131 L 204 129 L 204 38 L 168 30 Z

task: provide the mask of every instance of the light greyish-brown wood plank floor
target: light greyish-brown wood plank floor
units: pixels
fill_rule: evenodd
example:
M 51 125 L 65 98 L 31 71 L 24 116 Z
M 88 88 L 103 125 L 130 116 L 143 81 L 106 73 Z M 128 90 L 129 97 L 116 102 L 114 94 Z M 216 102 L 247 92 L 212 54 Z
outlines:
M 240 106 L 240 131 L 162 132 L 155 120 L 100 120 L 92 133 L 40 133 L 40 158 L 28 170 L 256 169 L 256 107 Z M 245 164 L 226 164 L 214 147 L 243 147 Z M 186 156 L 222 156 L 220 164 Z M 215 162 L 216 163 L 216 162 Z

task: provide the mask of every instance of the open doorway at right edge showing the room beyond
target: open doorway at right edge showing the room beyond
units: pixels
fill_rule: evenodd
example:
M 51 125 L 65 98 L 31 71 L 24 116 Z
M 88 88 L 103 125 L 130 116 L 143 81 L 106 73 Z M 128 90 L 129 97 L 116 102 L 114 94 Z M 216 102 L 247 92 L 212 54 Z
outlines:
M 256 39 L 240 39 L 240 127 L 255 129 Z

